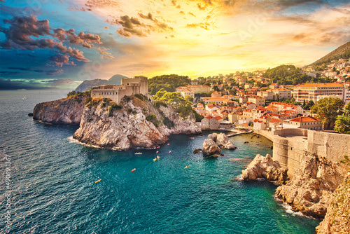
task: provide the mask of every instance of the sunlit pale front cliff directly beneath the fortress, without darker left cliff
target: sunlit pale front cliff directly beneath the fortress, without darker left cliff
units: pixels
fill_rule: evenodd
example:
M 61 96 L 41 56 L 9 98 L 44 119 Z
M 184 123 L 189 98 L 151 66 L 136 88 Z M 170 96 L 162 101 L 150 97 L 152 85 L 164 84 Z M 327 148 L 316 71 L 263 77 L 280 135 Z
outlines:
M 115 150 L 151 149 L 171 134 L 200 133 L 195 116 L 180 118 L 172 107 L 156 108 L 141 95 L 124 97 L 120 105 L 93 98 L 83 111 L 73 138 L 92 146 Z

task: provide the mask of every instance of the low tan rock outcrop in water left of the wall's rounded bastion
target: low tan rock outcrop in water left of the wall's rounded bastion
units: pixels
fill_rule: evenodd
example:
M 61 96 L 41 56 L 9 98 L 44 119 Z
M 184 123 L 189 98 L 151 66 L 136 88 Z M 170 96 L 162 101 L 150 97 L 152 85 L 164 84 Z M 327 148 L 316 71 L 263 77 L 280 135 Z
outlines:
M 242 179 L 266 179 L 267 181 L 275 181 L 276 184 L 283 184 L 287 179 L 287 169 L 281 167 L 278 161 L 272 160 L 269 154 L 266 157 L 258 154 L 249 163 L 246 170 L 242 171 Z

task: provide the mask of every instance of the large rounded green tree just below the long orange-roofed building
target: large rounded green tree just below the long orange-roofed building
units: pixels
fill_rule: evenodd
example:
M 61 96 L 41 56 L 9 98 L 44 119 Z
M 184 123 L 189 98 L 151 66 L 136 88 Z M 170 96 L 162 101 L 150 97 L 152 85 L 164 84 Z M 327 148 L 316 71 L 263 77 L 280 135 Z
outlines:
M 311 108 L 311 113 L 317 113 L 316 117 L 321 119 L 325 129 L 335 124 L 337 116 L 343 113 L 344 101 L 339 97 L 324 97 L 318 100 Z

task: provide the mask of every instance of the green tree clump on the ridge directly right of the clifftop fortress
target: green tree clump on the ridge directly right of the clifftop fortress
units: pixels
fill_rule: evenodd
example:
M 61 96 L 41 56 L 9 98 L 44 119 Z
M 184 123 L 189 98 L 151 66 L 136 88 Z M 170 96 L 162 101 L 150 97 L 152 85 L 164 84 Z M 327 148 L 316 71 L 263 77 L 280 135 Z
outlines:
M 174 92 L 179 86 L 190 85 L 188 76 L 162 75 L 148 79 L 148 92 L 155 95 L 158 91 Z

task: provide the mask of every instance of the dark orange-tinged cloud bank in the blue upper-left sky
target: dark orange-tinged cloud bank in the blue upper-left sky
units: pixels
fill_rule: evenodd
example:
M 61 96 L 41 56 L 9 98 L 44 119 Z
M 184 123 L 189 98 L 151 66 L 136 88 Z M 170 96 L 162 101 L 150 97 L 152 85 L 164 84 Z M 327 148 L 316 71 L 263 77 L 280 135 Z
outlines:
M 59 67 L 62 67 L 62 64 L 72 64 L 66 61 L 66 58 L 69 58 L 69 56 L 74 57 L 78 61 L 90 62 L 90 60 L 84 57 L 83 51 L 66 47 L 62 44 L 62 41 L 68 41 L 71 44 L 80 43 L 81 46 L 89 49 L 94 46 L 94 43 L 102 43 L 99 35 L 85 34 L 84 32 L 79 32 L 76 35 L 74 29 L 52 29 L 53 33 L 51 33 L 48 20 L 38 20 L 34 15 L 29 17 L 16 16 L 13 19 L 3 20 L 3 22 L 9 24 L 10 27 L 0 28 L 0 32 L 3 32 L 6 36 L 6 39 L 0 42 L 1 49 L 56 49 L 59 50 L 60 53 L 66 55 L 66 57 L 64 57 L 64 62 L 55 63 L 55 56 L 50 59 L 50 61 L 53 61 L 54 64 L 57 64 Z M 63 57 L 61 56 L 58 59 L 62 60 Z

